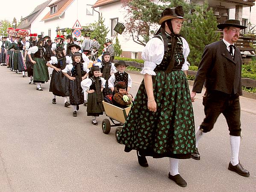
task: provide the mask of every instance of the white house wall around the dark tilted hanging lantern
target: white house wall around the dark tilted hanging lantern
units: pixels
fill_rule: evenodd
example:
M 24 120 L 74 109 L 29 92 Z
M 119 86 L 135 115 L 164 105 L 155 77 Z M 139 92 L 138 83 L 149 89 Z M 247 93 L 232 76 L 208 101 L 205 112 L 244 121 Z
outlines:
M 109 28 L 109 33 L 107 35 L 108 39 L 113 39 L 114 37 L 111 36 L 111 19 L 118 17 L 119 23 L 125 23 L 124 16 L 126 12 L 121 7 L 120 2 L 110 3 L 106 6 L 100 7 L 100 13 L 102 13 L 103 18 L 105 19 L 105 25 Z M 122 35 L 118 34 L 118 40 L 121 44 L 121 49 L 123 51 L 129 52 L 141 52 L 144 46 L 135 43 L 130 37 L 129 34 L 125 34 L 124 32 Z M 115 43 L 115 38 L 113 40 Z

